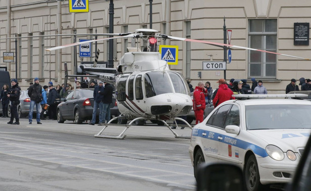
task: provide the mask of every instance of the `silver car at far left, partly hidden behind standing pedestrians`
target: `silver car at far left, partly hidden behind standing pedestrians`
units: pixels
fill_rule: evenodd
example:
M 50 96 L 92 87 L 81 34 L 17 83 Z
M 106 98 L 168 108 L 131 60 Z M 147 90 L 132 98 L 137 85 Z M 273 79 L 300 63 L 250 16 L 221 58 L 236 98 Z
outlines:
M 28 90 L 22 90 L 19 96 L 20 103 L 17 106 L 17 112 L 19 117 L 27 116 L 29 114 L 30 97 L 28 96 Z M 37 109 L 34 105 L 33 113 L 36 113 Z M 8 116 L 11 117 L 11 101 L 9 102 Z

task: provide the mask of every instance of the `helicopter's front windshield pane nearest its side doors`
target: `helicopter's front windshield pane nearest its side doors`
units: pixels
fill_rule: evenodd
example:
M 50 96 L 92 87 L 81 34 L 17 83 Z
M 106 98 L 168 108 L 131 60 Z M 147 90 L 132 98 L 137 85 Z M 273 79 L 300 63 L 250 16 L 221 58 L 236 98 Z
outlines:
M 163 72 L 149 72 L 145 74 L 146 97 L 172 93 L 169 77 Z

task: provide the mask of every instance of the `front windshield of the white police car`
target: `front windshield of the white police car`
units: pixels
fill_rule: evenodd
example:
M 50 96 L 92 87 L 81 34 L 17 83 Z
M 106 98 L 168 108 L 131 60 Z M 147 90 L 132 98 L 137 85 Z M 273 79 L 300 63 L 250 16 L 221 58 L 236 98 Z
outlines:
M 245 106 L 246 129 L 311 129 L 311 105 Z

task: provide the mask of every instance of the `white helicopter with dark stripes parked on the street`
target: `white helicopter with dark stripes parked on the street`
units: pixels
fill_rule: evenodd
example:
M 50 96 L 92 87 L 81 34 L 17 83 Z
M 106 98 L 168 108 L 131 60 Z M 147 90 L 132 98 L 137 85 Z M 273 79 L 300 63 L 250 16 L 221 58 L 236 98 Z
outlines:
M 156 42 L 159 38 L 200 42 L 222 48 L 242 48 L 285 55 L 230 44 L 167 36 L 159 34 L 157 33 L 158 31 L 153 29 L 138 29 L 136 31 L 136 33 L 119 34 L 118 37 L 76 42 L 47 49 L 47 51 L 52 51 L 79 44 L 116 38 L 132 37 L 148 40 L 147 46 L 142 47 L 144 51 L 141 51 L 138 47 L 128 48 L 129 52 L 126 52 L 122 56 L 117 69 L 79 66 L 81 74 L 92 75 L 96 79 L 112 83 L 116 87 L 116 99 L 121 114 L 105 124 L 104 128 L 95 137 L 124 139 L 126 137 L 124 133 L 132 123 L 137 121 L 136 124 L 142 124 L 145 120 L 151 120 L 158 124 L 165 124 L 174 134 L 175 138 L 189 138 L 189 136 L 177 135 L 171 129 L 170 125 L 165 122 L 166 119 L 170 119 L 177 126 L 176 120 L 181 120 L 192 129 L 192 126 L 186 120 L 177 116 L 187 115 L 191 110 L 193 102 L 190 97 L 189 86 L 183 75 L 180 72 L 171 71 L 168 68 L 167 61 L 162 60 L 160 53 L 156 51 Z M 291 55 L 285 56 L 307 59 Z M 131 121 L 118 136 L 102 135 L 108 125 L 118 118 L 123 119 L 122 123 L 126 123 L 127 119 L 131 119 Z

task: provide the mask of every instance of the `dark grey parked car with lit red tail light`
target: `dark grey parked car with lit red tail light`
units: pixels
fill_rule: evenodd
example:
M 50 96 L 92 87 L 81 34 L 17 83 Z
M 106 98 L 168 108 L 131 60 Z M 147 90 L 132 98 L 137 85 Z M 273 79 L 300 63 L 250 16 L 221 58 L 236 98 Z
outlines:
M 84 120 L 91 120 L 93 114 L 94 89 L 76 89 L 71 91 L 63 102 L 57 106 L 57 121 L 63 123 L 65 120 L 73 120 L 80 124 Z M 113 103 L 115 99 L 113 98 Z M 111 108 L 115 107 L 111 104 Z M 111 112 L 115 112 L 114 110 Z M 99 116 L 99 109 L 97 109 L 97 121 Z

